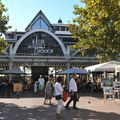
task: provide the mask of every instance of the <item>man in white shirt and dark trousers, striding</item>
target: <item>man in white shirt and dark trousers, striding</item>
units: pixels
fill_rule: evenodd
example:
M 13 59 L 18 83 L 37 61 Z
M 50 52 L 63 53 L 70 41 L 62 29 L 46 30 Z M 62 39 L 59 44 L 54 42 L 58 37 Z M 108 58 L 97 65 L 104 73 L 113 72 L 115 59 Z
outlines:
M 65 106 L 65 108 L 68 109 L 68 110 L 70 109 L 69 105 L 72 101 L 73 101 L 73 109 L 77 109 L 76 102 L 77 102 L 77 97 L 78 97 L 78 95 L 77 95 L 78 88 L 77 88 L 76 78 L 77 78 L 77 75 L 73 74 L 72 78 L 69 82 L 70 99 L 68 100 L 68 102 Z

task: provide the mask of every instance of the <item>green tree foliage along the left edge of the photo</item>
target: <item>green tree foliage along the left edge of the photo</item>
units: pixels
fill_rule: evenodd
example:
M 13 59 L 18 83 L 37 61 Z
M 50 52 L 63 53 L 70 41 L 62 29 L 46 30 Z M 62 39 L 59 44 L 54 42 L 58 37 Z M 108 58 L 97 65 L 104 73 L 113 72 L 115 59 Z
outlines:
M 10 26 L 7 26 L 9 17 L 4 15 L 5 12 L 7 12 L 7 9 L 4 7 L 0 0 L 0 34 L 5 33 L 6 30 L 10 28 Z M 0 53 L 3 53 L 6 45 L 6 41 L 0 36 Z

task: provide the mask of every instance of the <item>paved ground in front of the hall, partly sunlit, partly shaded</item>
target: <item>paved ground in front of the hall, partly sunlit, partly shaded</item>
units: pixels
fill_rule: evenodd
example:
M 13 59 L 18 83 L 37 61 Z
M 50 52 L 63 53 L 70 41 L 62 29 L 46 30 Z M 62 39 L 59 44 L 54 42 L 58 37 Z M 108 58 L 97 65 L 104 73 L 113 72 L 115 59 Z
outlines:
M 56 101 L 53 98 L 53 106 L 43 105 L 43 101 L 44 98 L 0 98 L 0 120 L 55 120 Z M 63 120 L 120 120 L 120 101 L 104 104 L 103 98 L 81 96 L 77 106 L 79 110 L 64 109 Z

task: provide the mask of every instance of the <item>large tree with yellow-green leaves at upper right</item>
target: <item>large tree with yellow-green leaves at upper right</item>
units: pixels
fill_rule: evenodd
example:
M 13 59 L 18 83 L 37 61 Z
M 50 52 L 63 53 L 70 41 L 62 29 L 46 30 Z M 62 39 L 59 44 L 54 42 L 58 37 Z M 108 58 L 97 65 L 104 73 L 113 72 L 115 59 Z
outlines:
M 120 55 L 120 0 L 81 0 L 85 7 L 74 5 L 76 18 L 69 30 L 78 40 L 72 46 L 82 56 L 96 53 L 100 62 Z

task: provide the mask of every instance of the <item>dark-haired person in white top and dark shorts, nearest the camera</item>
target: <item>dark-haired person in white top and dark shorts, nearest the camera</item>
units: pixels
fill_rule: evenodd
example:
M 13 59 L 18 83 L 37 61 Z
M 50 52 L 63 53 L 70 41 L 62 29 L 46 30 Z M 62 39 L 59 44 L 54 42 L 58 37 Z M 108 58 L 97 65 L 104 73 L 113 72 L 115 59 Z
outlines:
M 54 96 L 55 96 L 55 99 L 57 101 L 57 111 L 56 111 L 56 117 L 58 119 L 61 119 L 62 116 L 61 116 L 61 112 L 62 112 L 62 109 L 63 109 L 63 88 L 62 88 L 62 77 L 57 77 L 57 81 L 55 82 L 55 85 L 54 85 Z

